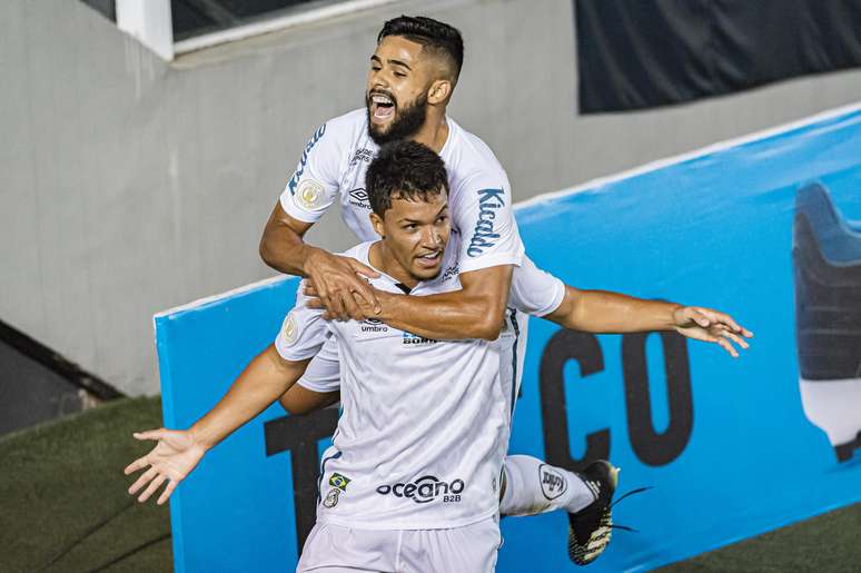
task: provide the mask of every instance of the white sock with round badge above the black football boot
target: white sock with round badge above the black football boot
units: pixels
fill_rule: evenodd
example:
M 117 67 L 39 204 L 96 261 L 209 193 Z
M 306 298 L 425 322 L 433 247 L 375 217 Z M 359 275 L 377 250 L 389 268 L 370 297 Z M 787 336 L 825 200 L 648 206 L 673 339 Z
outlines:
M 536 515 L 554 510 L 578 512 L 595 501 L 583 480 L 573 472 L 526 455 L 505 458 L 502 515 Z

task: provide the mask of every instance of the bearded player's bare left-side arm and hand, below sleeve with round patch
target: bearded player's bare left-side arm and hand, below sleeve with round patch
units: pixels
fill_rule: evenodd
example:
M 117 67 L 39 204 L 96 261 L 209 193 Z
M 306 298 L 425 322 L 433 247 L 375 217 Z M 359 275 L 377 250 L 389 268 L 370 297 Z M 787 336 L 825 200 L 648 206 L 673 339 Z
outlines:
M 357 260 L 307 245 L 304 236 L 313 225 L 291 217 L 276 202 L 260 239 L 260 257 L 276 270 L 308 278 L 326 308 L 338 319 L 365 318 L 354 295 L 378 312 L 375 293 L 362 276 L 379 275 Z

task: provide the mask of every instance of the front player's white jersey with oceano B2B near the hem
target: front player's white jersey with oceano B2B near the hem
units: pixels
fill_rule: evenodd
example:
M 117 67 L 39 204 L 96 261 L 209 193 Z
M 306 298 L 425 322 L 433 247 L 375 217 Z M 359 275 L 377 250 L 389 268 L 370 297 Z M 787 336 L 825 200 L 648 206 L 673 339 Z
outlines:
M 372 245 L 345 256 L 369 265 Z M 439 276 L 409 296 L 459 289 L 461 253 L 446 249 Z M 370 283 L 403 294 L 387 275 Z M 337 340 L 343 413 L 323 456 L 317 521 L 426 530 L 494 515 L 514 399 L 499 365 L 516 337 L 432 340 L 375 319 L 327 322 L 305 303 L 299 288 L 275 347 L 300 360 Z

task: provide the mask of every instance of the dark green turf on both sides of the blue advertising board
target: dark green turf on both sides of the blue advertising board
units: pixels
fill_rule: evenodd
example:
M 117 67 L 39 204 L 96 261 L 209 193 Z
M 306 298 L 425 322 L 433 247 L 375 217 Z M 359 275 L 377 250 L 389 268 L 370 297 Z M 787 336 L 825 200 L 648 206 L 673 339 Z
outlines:
M 136 398 L 0 438 L 0 572 L 171 571 L 167 506 L 122 475 L 151 447 L 131 433 L 159 426 L 160 401 Z M 859 572 L 861 504 L 660 571 Z

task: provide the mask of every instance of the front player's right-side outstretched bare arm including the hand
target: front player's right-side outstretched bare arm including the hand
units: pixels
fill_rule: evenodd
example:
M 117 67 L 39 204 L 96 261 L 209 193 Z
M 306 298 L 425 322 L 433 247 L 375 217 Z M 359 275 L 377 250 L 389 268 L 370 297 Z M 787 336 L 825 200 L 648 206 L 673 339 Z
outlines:
M 689 338 L 715 343 L 733 357 L 753 333 L 730 315 L 700 306 L 644 300 L 606 290 L 580 290 L 566 286 L 562 304 L 545 318 L 565 328 L 588 333 L 675 330 Z

